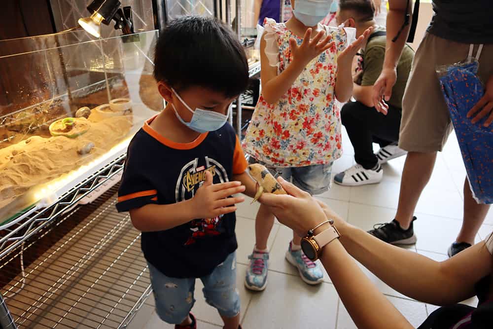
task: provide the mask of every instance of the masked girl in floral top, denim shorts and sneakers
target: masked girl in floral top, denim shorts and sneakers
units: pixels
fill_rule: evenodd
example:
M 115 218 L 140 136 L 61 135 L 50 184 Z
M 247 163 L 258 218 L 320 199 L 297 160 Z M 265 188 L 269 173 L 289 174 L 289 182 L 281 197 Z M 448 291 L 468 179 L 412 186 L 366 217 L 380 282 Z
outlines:
M 371 30 L 348 45 L 354 29 L 319 24 L 332 1 L 292 0 L 293 17 L 285 24 L 265 20 L 260 42 L 262 96 L 246 131 L 244 148 L 252 162 L 296 186 L 319 194 L 328 189 L 332 162 L 341 156 L 339 102 L 352 94 L 352 58 Z M 256 244 L 249 256 L 245 285 L 264 290 L 267 284 L 267 238 L 274 215 L 263 206 L 255 222 Z M 308 284 L 323 273 L 300 249 L 293 234 L 286 259 Z

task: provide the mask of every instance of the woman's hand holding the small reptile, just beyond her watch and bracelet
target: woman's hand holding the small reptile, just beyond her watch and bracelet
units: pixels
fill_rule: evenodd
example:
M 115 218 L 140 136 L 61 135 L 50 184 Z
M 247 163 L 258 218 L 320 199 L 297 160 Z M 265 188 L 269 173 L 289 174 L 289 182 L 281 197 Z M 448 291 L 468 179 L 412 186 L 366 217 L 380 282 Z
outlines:
M 327 220 L 323 209 L 309 193 L 282 177 L 278 178 L 278 182 L 288 195 L 264 193 L 259 201 L 268 206 L 282 224 L 292 228 L 299 236 L 306 236 L 309 229 Z

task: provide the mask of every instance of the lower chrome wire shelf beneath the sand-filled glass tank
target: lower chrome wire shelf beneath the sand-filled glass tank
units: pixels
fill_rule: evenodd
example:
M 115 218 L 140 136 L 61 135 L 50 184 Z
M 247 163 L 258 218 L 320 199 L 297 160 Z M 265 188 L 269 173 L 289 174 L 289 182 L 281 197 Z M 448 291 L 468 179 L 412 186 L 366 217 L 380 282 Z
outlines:
M 128 213 L 116 213 L 116 188 L 105 197 L 71 209 L 0 259 L 1 273 L 13 277 L 0 290 L 15 323 L 9 328 L 123 329 L 133 319 L 151 292 L 140 232 Z M 19 254 L 39 249 L 46 251 L 24 273 L 12 271 Z

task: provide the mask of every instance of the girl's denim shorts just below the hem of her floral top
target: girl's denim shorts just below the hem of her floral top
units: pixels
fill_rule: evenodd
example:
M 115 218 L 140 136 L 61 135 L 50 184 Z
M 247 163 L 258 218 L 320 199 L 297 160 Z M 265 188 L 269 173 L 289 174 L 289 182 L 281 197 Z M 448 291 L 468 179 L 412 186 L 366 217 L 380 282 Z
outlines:
M 293 183 L 295 186 L 311 195 L 326 192 L 332 183 L 331 174 L 333 162 L 306 167 L 272 167 L 252 157 L 249 158 L 248 162 L 250 164 L 260 163 L 261 165 L 264 165 L 274 177 L 277 178 L 281 176 L 286 181 Z

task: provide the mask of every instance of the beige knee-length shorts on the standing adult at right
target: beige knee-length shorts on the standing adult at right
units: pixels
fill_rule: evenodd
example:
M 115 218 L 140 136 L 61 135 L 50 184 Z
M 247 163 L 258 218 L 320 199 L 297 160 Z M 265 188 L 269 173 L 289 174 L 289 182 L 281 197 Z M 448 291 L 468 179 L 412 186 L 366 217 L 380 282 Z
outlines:
M 476 56 L 479 45 L 474 46 Z M 441 151 L 453 129 L 440 88 L 437 65 L 466 59 L 469 44 L 427 33 L 416 51 L 402 99 L 399 147 L 410 152 Z M 485 44 L 479 57 L 479 76 L 484 83 L 493 75 L 493 44 Z

